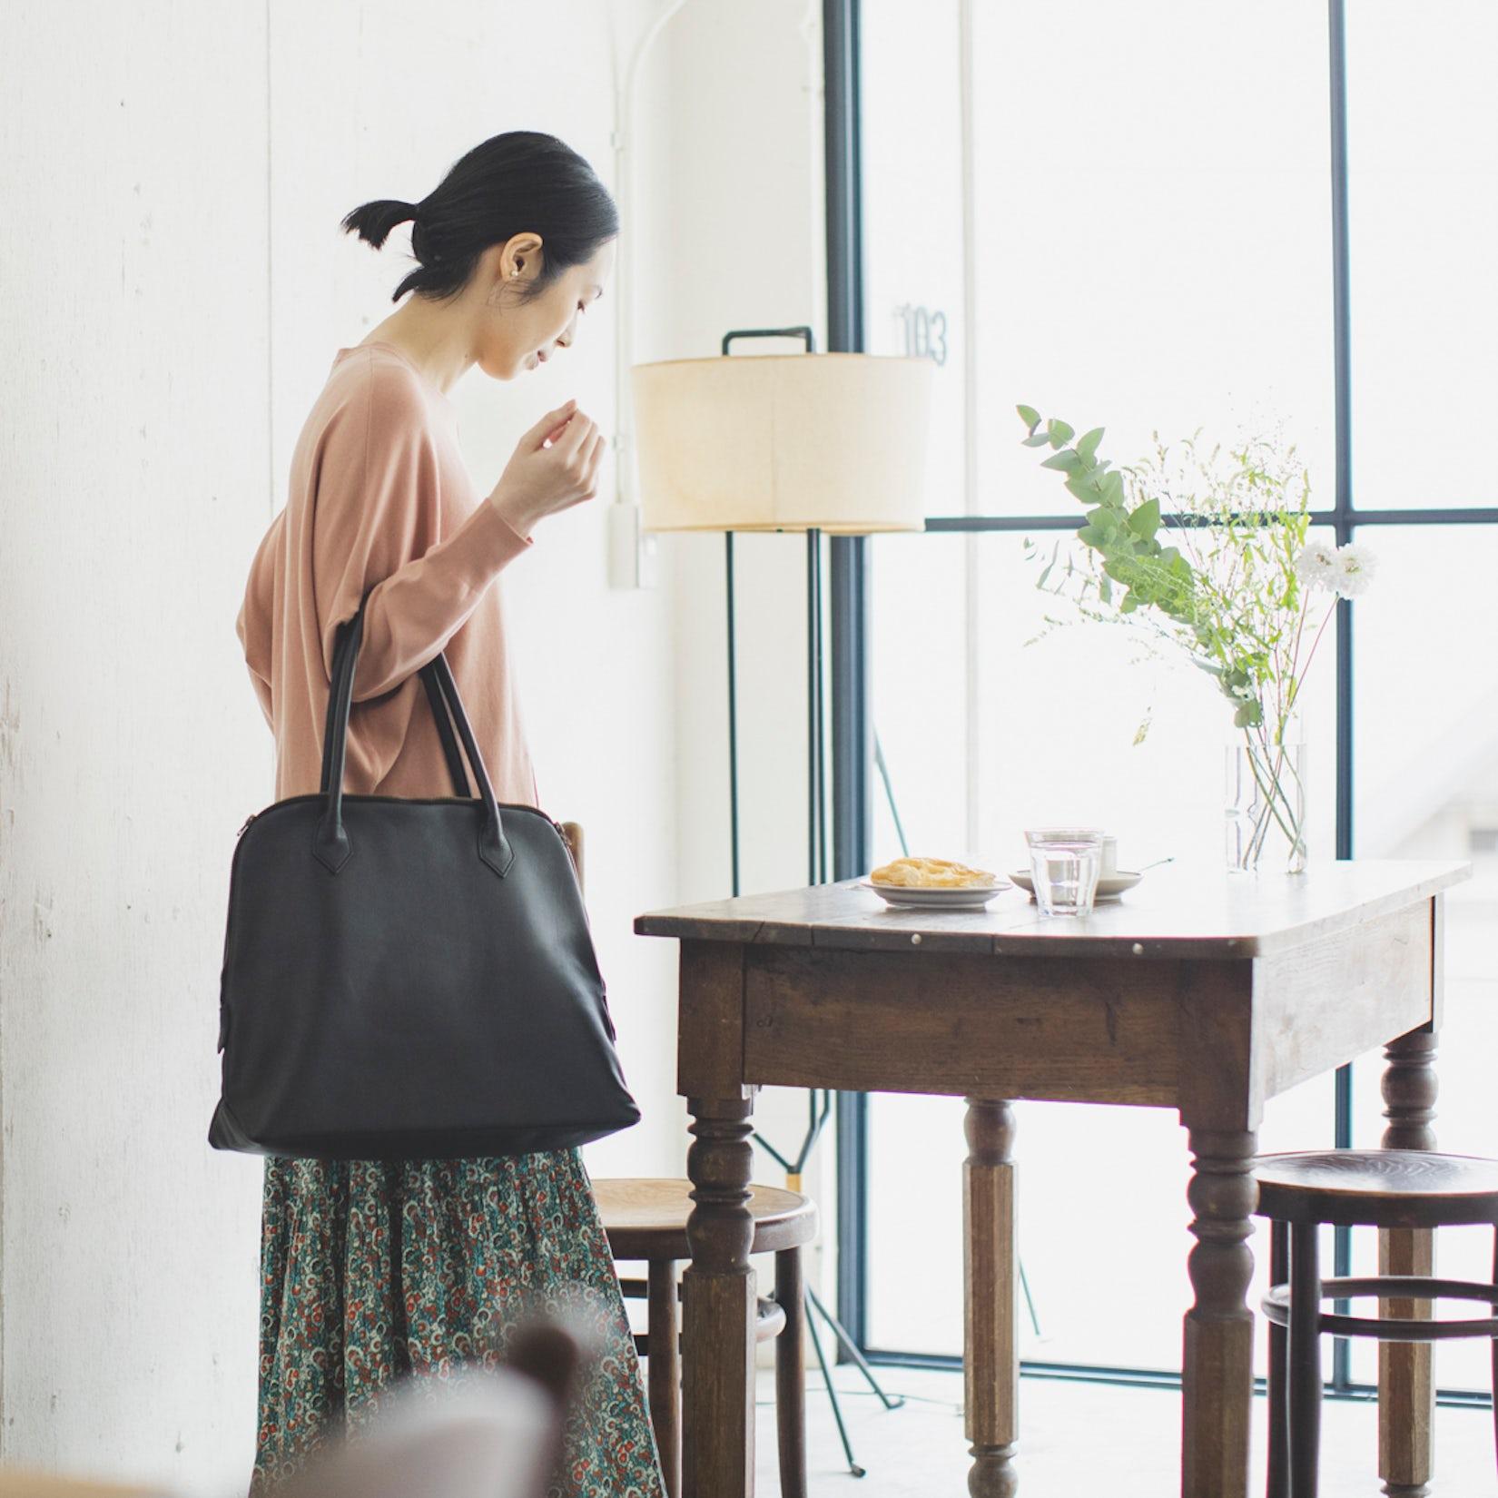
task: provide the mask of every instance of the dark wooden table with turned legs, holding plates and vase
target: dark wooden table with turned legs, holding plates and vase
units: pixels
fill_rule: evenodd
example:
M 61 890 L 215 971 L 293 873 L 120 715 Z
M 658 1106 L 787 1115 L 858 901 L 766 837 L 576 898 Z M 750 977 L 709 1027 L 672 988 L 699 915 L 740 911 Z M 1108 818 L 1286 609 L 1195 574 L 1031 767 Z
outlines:
M 1245 1498 L 1254 1314 L 1245 1302 L 1263 1104 L 1383 1046 L 1386 1146 L 1431 1149 L 1441 891 L 1459 863 L 1342 861 L 1305 875 L 1171 866 L 1086 918 L 1007 890 L 986 911 L 894 911 L 857 881 L 656 911 L 682 941 L 677 1091 L 695 1141 L 685 1276 L 683 1494 L 753 1492 L 746 1209 L 753 1089 L 968 1100 L 966 1434 L 974 1498 L 1014 1467 L 1017 1098 L 1170 1107 L 1188 1129 L 1194 1305 L 1185 1318 L 1180 1492 Z M 1100 1143 L 1100 1159 L 1106 1144 Z M 1396 1272 L 1429 1234 L 1386 1234 Z M 1380 1468 L 1429 1476 L 1429 1350 L 1386 1347 Z

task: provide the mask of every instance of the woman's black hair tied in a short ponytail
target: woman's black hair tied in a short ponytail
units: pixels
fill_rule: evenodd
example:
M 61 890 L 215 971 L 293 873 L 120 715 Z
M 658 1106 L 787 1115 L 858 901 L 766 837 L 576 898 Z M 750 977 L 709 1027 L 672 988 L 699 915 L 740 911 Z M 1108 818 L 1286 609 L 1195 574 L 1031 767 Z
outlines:
M 395 288 L 433 301 L 455 297 L 479 255 L 526 229 L 541 235 L 538 295 L 569 265 L 581 265 L 619 234 L 619 210 L 593 168 L 554 135 L 506 130 L 460 156 L 421 202 L 377 198 L 349 213 L 342 228 L 379 249 L 391 229 L 415 220 L 410 247 L 421 265 Z

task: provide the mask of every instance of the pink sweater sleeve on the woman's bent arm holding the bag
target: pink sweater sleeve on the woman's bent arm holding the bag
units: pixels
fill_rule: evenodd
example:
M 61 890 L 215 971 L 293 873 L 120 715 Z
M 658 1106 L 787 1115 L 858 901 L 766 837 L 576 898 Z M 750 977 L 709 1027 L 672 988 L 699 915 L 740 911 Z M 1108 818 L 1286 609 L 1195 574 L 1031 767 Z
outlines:
M 313 518 L 324 674 L 339 625 L 364 607 L 354 701 L 389 692 L 440 652 L 485 587 L 532 541 L 485 499 L 451 535 L 421 394 L 374 369 L 328 422 Z

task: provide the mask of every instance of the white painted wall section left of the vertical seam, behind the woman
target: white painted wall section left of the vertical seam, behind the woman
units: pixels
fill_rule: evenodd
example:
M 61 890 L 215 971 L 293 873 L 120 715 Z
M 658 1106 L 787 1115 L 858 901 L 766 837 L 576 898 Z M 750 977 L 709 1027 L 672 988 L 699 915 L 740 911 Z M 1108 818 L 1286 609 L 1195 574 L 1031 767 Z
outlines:
M 0 46 L 6 1461 L 246 1465 L 253 1165 L 204 1134 L 270 762 L 234 635 L 270 515 L 264 64 L 228 4 L 16 4 Z

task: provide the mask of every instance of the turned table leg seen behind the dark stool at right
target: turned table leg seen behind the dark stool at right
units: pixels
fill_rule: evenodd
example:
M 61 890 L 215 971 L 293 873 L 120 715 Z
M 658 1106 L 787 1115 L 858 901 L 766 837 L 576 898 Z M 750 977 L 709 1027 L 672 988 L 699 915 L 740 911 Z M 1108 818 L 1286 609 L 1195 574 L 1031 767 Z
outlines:
M 1417 1029 L 1384 1047 L 1384 1149 L 1435 1149 L 1434 1029 Z M 1429 1228 L 1387 1228 L 1378 1234 L 1381 1275 L 1434 1275 L 1435 1236 Z M 1381 1300 L 1380 1315 L 1429 1318 L 1429 1300 Z M 1425 1498 L 1431 1491 L 1431 1426 L 1435 1381 L 1429 1342 L 1378 1344 L 1378 1476 L 1389 1498 Z

